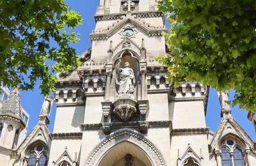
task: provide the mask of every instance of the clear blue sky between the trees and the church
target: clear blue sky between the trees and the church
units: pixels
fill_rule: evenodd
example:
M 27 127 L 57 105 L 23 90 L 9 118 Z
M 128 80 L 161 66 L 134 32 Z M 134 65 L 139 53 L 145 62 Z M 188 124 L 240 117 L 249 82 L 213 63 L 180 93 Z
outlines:
M 95 20 L 93 15 L 99 4 L 99 0 L 66 0 L 66 3 L 76 11 L 79 11 L 83 17 L 83 25 L 78 26 L 73 31 L 81 34 L 81 40 L 72 45 L 77 54 L 83 53 L 85 50 L 91 47 L 91 41 L 89 34 L 92 32 L 95 26 Z M 230 99 L 234 97 L 234 91 L 230 91 Z M 36 84 L 33 91 L 22 91 L 21 92 L 22 106 L 26 109 L 30 115 L 28 132 L 31 131 L 33 126 L 38 122 L 38 114 L 40 113 L 42 102 L 44 97 L 40 94 L 39 82 Z M 49 129 L 52 131 L 54 126 L 54 119 L 56 114 L 56 107 L 52 107 L 52 112 L 50 116 Z M 247 119 L 248 112 L 245 110 L 239 109 L 239 107 L 232 108 L 232 115 L 236 118 L 239 124 L 244 128 L 244 130 L 256 140 L 256 135 L 253 130 L 252 122 Z M 191 115 L 191 118 L 193 116 Z M 206 114 L 206 124 L 212 132 L 215 132 L 220 123 L 220 102 L 215 89 L 210 90 L 209 103 L 207 105 L 207 114 Z M 196 121 L 196 119 L 195 119 Z M 184 122 L 185 123 L 185 122 Z M 65 127 L 65 126 L 63 126 Z

